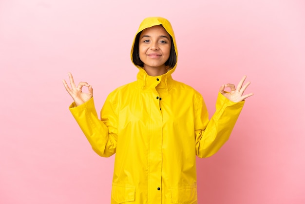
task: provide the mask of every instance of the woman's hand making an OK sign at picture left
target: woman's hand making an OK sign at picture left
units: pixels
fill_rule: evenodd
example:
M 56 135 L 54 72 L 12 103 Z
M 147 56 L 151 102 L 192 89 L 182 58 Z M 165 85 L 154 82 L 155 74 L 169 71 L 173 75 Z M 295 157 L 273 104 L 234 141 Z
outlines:
M 78 85 L 75 85 L 75 82 L 73 80 L 72 74 L 69 72 L 68 73 L 69 78 L 70 78 L 70 85 L 71 88 L 68 86 L 67 82 L 65 80 L 62 80 L 63 85 L 65 86 L 67 92 L 70 94 L 70 96 L 73 98 L 74 102 L 76 105 L 81 105 L 84 102 L 89 101 L 89 99 L 92 98 L 93 96 L 93 89 L 92 86 L 89 85 L 87 82 L 79 82 Z M 88 87 L 88 93 L 82 92 L 82 87 L 86 86 Z

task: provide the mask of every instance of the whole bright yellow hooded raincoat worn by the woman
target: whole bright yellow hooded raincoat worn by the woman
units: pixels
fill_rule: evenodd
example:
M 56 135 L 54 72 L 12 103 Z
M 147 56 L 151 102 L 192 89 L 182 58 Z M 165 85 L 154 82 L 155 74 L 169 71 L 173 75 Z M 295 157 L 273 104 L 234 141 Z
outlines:
M 168 20 L 145 19 L 137 33 L 154 25 L 171 35 L 178 56 Z M 209 120 L 200 93 L 172 79 L 176 65 L 161 76 L 137 68 L 135 82 L 110 93 L 100 120 L 93 98 L 70 111 L 98 155 L 115 153 L 112 204 L 197 204 L 196 155 L 210 157 L 229 139 L 244 102 L 219 94 Z

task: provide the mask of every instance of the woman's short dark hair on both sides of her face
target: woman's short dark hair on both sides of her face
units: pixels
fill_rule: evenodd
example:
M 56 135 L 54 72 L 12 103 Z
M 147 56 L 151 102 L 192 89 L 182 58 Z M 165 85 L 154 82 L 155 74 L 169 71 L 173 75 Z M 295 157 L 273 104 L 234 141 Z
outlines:
M 162 26 L 162 25 L 161 25 Z M 143 61 L 141 61 L 140 56 L 139 56 L 139 40 L 140 40 L 140 35 L 141 35 L 142 31 L 139 32 L 134 40 L 134 45 L 133 45 L 133 63 L 135 65 L 138 65 L 140 67 L 144 66 Z M 172 40 L 172 36 L 169 34 L 170 38 L 171 38 L 171 52 L 170 52 L 170 57 L 169 59 L 165 62 L 165 66 L 169 66 L 171 68 L 173 68 L 177 62 L 177 55 L 175 52 L 175 46 L 173 44 L 173 40 Z

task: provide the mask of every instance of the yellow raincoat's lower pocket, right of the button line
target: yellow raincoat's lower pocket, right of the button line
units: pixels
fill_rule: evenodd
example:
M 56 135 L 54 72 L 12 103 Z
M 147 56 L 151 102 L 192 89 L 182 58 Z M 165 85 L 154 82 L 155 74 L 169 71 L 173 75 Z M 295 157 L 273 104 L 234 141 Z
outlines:
M 180 187 L 171 191 L 171 202 L 174 204 L 193 204 L 197 201 L 196 187 Z

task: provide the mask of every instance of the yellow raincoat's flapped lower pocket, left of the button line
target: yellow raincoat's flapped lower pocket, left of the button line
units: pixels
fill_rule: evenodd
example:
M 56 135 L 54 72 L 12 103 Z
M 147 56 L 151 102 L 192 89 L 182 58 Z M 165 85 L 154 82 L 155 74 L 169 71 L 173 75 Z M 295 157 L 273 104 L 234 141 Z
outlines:
M 118 204 L 134 201 L 135 187 L 112 184 L 111 197 Z

